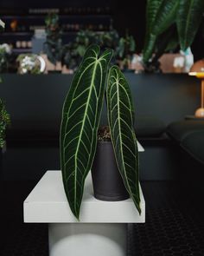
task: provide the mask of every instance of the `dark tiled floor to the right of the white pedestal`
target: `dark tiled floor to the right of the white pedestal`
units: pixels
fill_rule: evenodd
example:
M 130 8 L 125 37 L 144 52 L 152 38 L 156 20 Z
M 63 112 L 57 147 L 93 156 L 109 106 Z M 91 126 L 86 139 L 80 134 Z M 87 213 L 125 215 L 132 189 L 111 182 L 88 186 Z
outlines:
M 203 256 L 202 197 L 174 182 L 145 182 L 146 223 L 131 225 L 131 256 Z

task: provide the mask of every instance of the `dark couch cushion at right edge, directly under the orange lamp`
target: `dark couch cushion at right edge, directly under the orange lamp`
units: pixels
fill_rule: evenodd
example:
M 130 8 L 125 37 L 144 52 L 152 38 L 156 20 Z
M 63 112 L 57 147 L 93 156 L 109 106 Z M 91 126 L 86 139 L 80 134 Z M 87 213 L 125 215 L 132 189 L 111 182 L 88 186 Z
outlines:
M 175 141 L 181 142 L 186 136 L 200 130 L 204 130 L 203 120 L 186 120 L 172 122 L 169 124 L 166 132 Z

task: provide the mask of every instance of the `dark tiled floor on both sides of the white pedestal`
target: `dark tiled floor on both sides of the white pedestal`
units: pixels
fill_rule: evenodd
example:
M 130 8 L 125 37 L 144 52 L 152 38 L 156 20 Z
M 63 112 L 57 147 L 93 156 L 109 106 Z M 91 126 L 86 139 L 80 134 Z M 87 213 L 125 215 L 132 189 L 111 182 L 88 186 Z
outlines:
M 48 226 L 23 224 L 22 201 L 34 182 L 2 182 L 1 256 L 48 256 Z M 175 182 L 143 182 L 146 223 L 129 226 L 130 256 L 204 256 L 202 197 Z M 68 256 L 68 255 L 67 255 Z M 74 256 L 74 255 L 70 255 Z

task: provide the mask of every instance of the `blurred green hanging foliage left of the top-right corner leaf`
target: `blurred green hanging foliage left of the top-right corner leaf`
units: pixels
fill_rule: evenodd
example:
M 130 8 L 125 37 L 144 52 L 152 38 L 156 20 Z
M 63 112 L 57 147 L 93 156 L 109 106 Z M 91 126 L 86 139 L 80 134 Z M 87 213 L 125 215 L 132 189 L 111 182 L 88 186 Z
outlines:
M 173 23 L 178 9 L 178 0 L 149 0 L 146 8 L 146 36 L 143 62 L 148 62 L 155 50 L 156 38 Z

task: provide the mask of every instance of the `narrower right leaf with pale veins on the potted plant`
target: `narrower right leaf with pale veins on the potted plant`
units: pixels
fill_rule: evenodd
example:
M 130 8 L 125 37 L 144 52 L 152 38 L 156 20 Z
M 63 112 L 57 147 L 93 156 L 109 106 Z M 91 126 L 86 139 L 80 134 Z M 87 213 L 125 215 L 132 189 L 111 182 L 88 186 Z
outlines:
M 110 69 L 107 85 L 108 121 L 119 172 L 139 213 L 138 150 L 131 90 L 117 66 Z

